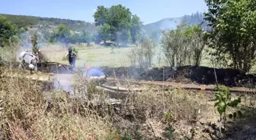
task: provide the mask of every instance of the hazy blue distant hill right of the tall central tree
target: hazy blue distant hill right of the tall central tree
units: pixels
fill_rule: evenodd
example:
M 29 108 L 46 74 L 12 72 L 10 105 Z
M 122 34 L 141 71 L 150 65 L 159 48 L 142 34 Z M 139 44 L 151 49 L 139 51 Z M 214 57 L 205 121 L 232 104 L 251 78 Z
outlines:
M 202 23 L 202 28 L 207 28 L 207 22 L 203 20 L 202 13 L 196 13 L 192 15 L 185 15 L 183 17 L 174 17 L 174 18 L 165 18 L 159 20 L 155 23 L 149 23 L 143 26 L 143 29 L 146 30 L 146 34 L 150 36 L 155 36 L 156 33 L 160 33 L 161 30 L 175 30 L 176 27 L 182 22 L 182 20 L 186 20 L 186 24 L 188 25 L 197 25 Z

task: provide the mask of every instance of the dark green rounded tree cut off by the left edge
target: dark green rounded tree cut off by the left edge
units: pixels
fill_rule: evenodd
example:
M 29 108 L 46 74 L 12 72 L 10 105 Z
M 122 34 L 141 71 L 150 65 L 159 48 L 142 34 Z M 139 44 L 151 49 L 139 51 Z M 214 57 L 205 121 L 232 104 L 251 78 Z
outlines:
M 6 17 L 0 16 L 0 47 L 10 45 L 16 30 Z

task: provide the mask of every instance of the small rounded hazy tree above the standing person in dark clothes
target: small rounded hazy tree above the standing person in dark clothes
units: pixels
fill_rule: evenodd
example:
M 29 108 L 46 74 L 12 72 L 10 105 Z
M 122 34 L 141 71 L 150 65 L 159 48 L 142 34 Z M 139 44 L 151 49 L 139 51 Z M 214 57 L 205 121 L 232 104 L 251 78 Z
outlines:
M 71 37 L 70 29 L 68 26 L 65 26 L 63 24 L 60 24 L 58 28 L 56 29 L 56 39 L 59 42 L 69 43 L 69 39 Z

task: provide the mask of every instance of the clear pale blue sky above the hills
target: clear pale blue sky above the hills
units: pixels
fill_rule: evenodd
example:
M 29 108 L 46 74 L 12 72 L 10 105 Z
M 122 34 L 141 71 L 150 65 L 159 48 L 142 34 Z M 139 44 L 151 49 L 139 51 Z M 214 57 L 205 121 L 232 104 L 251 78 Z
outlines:
M 143 23 L 153 23 L 166 17 L 181 17 L 206 11 L 204 0 L 2 0 L 1 14 L 22 14 L 94 21 L 98 5 L 124 5 L 137 14 Z

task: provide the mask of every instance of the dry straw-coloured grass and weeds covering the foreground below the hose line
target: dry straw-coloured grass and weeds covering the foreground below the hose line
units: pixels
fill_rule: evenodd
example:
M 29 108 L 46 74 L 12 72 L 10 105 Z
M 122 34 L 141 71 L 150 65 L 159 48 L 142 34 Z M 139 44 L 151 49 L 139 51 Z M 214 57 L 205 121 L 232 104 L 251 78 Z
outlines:
M 46 82 L 21 76 L 26 75 L 23 71 L 13 70 L 16 76 L 11 77 L 5 76 L 8 69 L 0 68 L 2 139 L 121 140 L 125 134 L 139 140 L 168 139 L 164 136 L 168 123 L 176 129 L 174 139 L 191 137 L 192 129 L 195 139 L 210 139 L 202 132 L 204 125 L 217 123 L 219 117 L 209 92 L 148 86 L 143 92 L 127 93 L 113 106 L 107 92 L 88 84 L 79 73 L 73 83 L 78 98 L 69 98 L 61 89 L 43 91 Z

